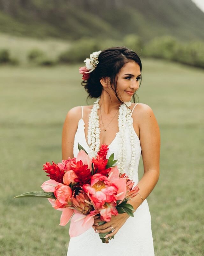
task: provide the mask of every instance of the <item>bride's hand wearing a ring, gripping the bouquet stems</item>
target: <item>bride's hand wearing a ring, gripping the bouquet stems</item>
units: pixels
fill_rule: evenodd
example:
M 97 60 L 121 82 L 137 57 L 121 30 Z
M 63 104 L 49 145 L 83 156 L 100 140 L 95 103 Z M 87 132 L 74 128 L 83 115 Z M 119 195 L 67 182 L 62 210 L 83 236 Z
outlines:
M 107 234 L 106 237 L 109 237 L 109 236 L 114 236 L 118 230 L 123 226 L 123 224 L 126 222 L 126 220 L 129 218 L 130 216 L 127 214 L 127 213 L 120 213 L 116 216 L 112 215 L 111 217 L 111 220 L 106 222 L 105 224 L 103 225 L 98 225 L 98 222 L 101 221 L 100 217 L 98 216 L 95 216 L 94 217 L 94 224 L 93 224 L 93 228 L 94 230 L 98 230 L 98 231 L 95 231 L 96 233 L 107 233 L 107 232 L 110 232 L 111 229 L 109 228 L 109 226 L 112 226 L 115 230 L 113 232 L 111 232 L 110 234 Z M 104 238 L 106 238 L 104 237 Z

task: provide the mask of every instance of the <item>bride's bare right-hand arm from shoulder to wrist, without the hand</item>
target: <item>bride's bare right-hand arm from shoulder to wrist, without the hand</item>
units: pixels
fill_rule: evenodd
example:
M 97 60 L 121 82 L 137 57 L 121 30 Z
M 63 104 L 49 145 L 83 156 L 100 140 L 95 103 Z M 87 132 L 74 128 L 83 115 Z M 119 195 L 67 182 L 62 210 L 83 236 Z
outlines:
M 139 120 L 140 145 L 144 174 L 138 182 L 139 194 L 145 200 L 159 179 L 160 131 L 152 109 L 146 104 L 138 104 L 133 112 L 133 120 Z M 142 203 L 140 195 L 131 198 L 129 203 L 136 210 Z

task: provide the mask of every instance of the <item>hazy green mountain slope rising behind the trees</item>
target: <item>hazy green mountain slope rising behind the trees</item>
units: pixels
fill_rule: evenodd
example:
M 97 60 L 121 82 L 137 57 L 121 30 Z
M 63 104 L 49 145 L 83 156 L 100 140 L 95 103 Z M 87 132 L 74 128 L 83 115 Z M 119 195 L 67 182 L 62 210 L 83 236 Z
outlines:
M 204 39 L 203 24 L 191 0 L 0 0 L 0 32 L 20 36 L 188 41 Z

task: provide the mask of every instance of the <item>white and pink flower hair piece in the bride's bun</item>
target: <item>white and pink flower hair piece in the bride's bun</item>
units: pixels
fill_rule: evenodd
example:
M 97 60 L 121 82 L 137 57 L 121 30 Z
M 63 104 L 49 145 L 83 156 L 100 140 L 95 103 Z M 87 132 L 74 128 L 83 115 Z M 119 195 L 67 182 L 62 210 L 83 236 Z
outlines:
M 90 77 L 90 73 L 97 67 L 98 64 L 98 55 L 101 51 L 92 52 L 90 58 L 86 58 L 84 62 L 86 66 L 79 68 L 79 73 L 83 75 L 82 79 L 87 80 Z

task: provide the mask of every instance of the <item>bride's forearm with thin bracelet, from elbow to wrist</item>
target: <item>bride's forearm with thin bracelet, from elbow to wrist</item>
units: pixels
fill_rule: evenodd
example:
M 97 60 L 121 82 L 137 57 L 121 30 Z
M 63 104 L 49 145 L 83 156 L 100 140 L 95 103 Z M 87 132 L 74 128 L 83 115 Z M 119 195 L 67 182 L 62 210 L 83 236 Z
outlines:
M 140 188 L 139 194 L 142 196 L 143 200 L 149 196 L 153 188 L 156 186 L 158 179 L 159 171 L 157 170 L 149 170 L 144 173 L 142 179 L 137 184 Z M 142 204 L 142 198 L 139 194 L 128 200 L 128 203 L 132 204 L 134 210 Z

